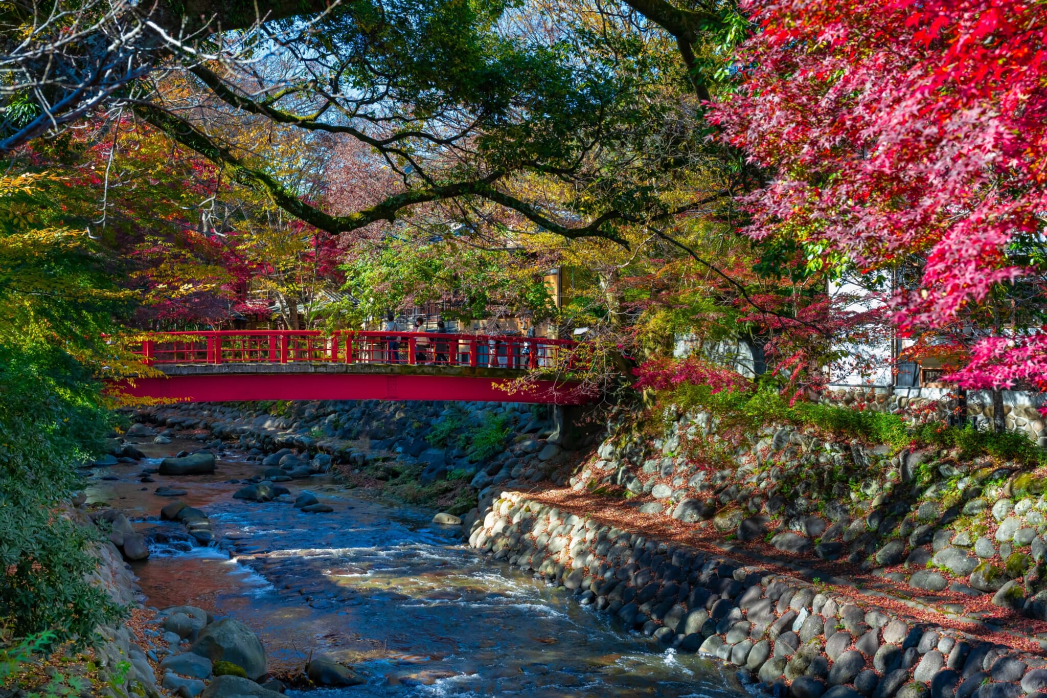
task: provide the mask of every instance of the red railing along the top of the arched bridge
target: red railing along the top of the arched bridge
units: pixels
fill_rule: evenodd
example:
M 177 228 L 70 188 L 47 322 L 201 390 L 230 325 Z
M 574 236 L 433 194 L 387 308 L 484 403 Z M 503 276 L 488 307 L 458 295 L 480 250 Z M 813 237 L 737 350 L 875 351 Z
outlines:
M 536 370 L 570 368 L 575 346 L 566 339 L 505 335 L 232 330 L 165 333 L 162 341 L 143 341 L 139 354 L 152 365 L 350 363 Z

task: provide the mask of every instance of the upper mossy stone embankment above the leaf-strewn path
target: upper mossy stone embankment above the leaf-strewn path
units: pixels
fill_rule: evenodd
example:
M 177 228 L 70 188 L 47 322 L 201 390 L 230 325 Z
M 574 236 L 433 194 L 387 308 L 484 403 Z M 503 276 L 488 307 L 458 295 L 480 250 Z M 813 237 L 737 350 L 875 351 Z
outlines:
M 669 418 L 654 438 L 612 431 L 573 489 L 754 554 L 838 563 L 821 568 L 871 575 L 938 612 L 1047 620 L 1038 466 L 955 449 L 892 452 L 790 426 L 736 438 L 708 413 Z

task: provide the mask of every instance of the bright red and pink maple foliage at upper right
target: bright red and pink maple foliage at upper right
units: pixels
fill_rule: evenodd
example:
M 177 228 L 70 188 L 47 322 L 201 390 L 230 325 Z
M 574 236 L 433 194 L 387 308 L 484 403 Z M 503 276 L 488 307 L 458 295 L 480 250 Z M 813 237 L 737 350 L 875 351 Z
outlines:
M 744 9 L 758 29 L 738 55 L 742 85 L 712 109 L 726 137 L 774 172 L 744 201 L 744 231 L 860 269 L 920 258 L 916 288 L 894 297 L 903 331 L 966 325 L 973 361 L 954 376 L 966 387 L 1042 385 L 1047 342 L 1035 313 L 1022 328 L 1012 303 L 995 301 L 1016 282 L 1035 282 L 1044 258 L 1047 5 L 785 0 Z

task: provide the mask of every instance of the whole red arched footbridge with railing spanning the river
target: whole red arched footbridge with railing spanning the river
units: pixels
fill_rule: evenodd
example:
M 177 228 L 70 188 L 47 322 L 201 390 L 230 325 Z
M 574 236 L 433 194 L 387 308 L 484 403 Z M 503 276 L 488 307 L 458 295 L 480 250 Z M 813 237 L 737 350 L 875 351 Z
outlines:
M 241 400 L 462 400 L 572 405 L 593 393 L 570 379 L 579 345 L 561 339 L 432 333 L 179 332 L 142 342 L 166 378 L 132 396 Z M 530 377 L 527 381 L 519 379 Z

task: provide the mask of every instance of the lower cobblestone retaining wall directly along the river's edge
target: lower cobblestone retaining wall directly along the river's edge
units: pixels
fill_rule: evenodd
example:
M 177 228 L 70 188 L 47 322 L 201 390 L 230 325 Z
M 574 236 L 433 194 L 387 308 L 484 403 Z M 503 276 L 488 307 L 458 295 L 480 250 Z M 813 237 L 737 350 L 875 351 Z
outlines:
M 817 585 L 504 492 L 469 535 L 477 549 L 625 628 L 699 652 L 796 698 L 1018 698 L 1047 690 L 1047 660 Z

